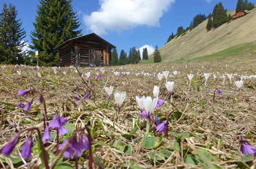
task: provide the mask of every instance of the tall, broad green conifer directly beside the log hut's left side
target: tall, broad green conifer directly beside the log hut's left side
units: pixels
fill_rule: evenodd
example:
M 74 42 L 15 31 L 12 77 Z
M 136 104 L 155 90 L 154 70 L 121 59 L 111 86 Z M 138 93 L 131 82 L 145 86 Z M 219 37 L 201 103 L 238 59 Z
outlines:
M 31 32 L 32 49 L 40 52 L 42 65 L 57 66 L 59 57 L 54 50 L 64 41 L 77 37 L 82 30 L 71 0 L 40 0 Z

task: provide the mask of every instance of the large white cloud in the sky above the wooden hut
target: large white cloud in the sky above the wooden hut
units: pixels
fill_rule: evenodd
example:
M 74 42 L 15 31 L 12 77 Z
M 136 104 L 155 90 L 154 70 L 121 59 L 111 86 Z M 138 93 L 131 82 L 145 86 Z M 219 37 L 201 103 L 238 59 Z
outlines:
M 87 29 L 96 34 L 120 32 L 140 25 L 160 26 L 159 19 L 175 0 L 100 0 L 101 8 L 84 15 Z

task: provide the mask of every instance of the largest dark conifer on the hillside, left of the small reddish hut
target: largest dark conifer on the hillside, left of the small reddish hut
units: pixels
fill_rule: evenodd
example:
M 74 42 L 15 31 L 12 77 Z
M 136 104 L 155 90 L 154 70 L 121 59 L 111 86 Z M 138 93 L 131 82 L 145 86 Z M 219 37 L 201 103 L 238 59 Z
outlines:
M 228 22 L 227 11 L 224 9 L 222 3 L 216 4 L 212 12 L 213 24 L 212 27 L 216 28 Z

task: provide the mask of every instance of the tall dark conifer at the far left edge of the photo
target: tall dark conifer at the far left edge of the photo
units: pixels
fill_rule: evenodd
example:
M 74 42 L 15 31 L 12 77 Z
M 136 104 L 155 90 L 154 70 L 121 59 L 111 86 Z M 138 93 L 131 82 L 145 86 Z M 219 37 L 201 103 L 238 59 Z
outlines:
M 22 48 L 26 46 L 23 39 L 26 31 L 22 28 L 21 19 L 17 19 L 17 11 L 14 5 L 3 4 L 0 13 L 0 62 L 2 64 L 23 64 L 24 53 Z

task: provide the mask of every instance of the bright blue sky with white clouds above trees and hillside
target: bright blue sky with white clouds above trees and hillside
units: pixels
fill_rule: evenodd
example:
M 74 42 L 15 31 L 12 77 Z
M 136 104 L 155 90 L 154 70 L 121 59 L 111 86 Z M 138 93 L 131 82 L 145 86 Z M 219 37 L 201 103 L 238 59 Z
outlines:
M 192 18 L 199 13 L 208 15 L 216 3 L 224 8 L 235 9 L 237 0 L 73 0 L 73 10 L 80 19 L 83 34 L 95 32 L 127 53 L 135 46 L 153 48 L 164 46 L 171 32 L 179 26 L 186 28 Z M 256 4 L 256 0 L 252 0 Z M 18 11 L 23 27 L 27 32 L 25 40 L 30 41 L 30 32 L 37 15 L 39 0 L 1 0 L 12 3 Z M 150 47 L 148 47 L 150 48 Z

